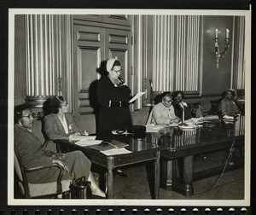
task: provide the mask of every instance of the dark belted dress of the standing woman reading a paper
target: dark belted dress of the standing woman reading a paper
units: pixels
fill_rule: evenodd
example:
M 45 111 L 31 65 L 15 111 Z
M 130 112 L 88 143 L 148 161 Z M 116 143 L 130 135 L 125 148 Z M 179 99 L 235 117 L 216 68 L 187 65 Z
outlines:
M 101 106 L 98 118 L 100 134 L 131 127 L 129 107 L 109 107 L 110 100 L 112 102 L 127 102 L 130 99 L 131 90 L 128 86 L 116 86 L 106 76 L 99 80 L 96 93 L 97 101 Z

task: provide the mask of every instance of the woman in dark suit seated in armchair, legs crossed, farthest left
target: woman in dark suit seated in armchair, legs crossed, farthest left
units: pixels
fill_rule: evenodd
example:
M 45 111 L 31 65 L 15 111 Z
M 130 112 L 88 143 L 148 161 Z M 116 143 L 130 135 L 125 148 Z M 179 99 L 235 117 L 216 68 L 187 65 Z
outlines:
M 15 146 L 19 151 L 23 166 L 26 168 L 38 166 L 52 166 L 57 163 L 64 168 L 65 173 L 62 177 L 65 179 L 76 180 L 79 177 L 85 177 L 90 181 L 92 195 L 105 197 L 105 193 L 98 188 L 94 177 L 90 172 L 90 160 L 80 151 L 73 151 L 62 154 L 62 157 L 55 153 L 44 150 L 38 137 L 32 133 L 32 111 L 26 105 L 15 107 Z M 57 180 L 59 171 L 56 169 L 44 169 L 28 174 L 29 183 L 49 183 Z

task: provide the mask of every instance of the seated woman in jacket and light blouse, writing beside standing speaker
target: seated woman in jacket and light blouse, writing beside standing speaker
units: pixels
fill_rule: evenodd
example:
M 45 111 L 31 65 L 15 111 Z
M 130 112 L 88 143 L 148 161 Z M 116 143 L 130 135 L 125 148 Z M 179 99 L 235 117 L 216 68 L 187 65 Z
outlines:
M 45 103 L 49 114 L 44 117 L 44 131 L 49 140 L 44 144 L 44 149 L 56 152 L 53 140 L 89 135 L 76 124 L 73 115 L 68 113 L 67 102 L 62 96 L 49 98 Z

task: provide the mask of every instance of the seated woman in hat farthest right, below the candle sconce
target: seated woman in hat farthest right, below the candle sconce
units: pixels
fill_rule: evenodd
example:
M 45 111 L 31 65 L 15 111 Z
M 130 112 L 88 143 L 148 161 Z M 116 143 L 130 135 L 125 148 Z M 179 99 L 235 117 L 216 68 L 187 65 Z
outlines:
M 227 89 L 224 90 L 224 98 L 221 100 L 218 110 L 222 116 L 231 116 L 235 117 L 238 114 L 241 114 L 240 109 L 238 108 L 236 102 L 236 90 Z

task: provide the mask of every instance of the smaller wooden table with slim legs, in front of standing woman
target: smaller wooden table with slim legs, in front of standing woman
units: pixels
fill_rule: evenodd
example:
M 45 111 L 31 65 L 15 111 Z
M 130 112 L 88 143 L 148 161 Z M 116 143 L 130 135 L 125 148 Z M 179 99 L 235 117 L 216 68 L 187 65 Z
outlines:
M 108 137 L 108 141 L 110 137 Z M 118 154 L 107 156 L 100 151 L 88 147 L 80 147 L 79 145 L 67 140 L 55 140 L 56 144 L 64 144 L 69 148 L 81 150 L 87 158 L 99 165 L 107 168 L 107 196 L 113 199 L 113 169 L 120 166 L 128 166 L 135 163 L 154 160 L 154 199 L 159 199 L 160 191 L 160 146 L 152 142 L 145 142 L 141 138 L 132 138 L 126 136 L 112 136 L 113 140 L 129 143 L 127 149 L 131 150 L 131 154 Z M 136 180 L 136 179 L 135 179 Z

